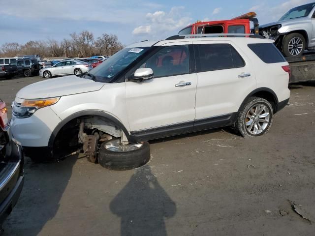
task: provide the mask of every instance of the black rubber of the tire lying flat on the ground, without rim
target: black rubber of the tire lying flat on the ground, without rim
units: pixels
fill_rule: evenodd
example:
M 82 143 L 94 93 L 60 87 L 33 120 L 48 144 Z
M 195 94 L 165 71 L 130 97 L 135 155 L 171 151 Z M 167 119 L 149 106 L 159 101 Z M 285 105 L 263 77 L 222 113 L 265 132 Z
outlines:
M 139 149 L 132 151 L 111 151 L 105 145 L 111 140 L 101 144 L 98 154 L 98 163 L 110 170 L 131 170 L 145 165 L 150 160 L 150 144 L 141 142 Z

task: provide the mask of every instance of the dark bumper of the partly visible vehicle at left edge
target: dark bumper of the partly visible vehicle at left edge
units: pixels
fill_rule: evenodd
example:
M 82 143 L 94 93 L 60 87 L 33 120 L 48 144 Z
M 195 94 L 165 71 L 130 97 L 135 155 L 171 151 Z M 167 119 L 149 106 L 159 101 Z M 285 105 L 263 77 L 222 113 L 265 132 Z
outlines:
M 22 147 L 13 141 L 11 141 L 9 160 L 14 160 L 14 162 L 8 162 L 5 171 L 3 168 L 5 175 L 1 176 L 0 182 L 0 225 L 16 205 L 24 184 Z M 10 191 L 9 194 L 7 194 L 8 191 Z M 5 198 L 3 199 L 3 197 Z

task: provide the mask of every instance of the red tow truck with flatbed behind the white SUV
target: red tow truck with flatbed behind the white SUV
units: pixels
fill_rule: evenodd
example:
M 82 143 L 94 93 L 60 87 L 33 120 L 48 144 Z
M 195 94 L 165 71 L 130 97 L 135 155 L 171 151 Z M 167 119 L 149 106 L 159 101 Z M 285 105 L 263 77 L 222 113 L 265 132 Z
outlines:
M 249 12 L 231 20 L 197 21 L 181 29 L 178 35 L 187 34 L 259 34 L 259 23 L 255 12 Z M 260 37 L 263 37 L 260 35 Z M 291 76 L 289 83 L 315 81 L 315 54 L 305 53 L 299 57 L 285 58 L 290 65 Z

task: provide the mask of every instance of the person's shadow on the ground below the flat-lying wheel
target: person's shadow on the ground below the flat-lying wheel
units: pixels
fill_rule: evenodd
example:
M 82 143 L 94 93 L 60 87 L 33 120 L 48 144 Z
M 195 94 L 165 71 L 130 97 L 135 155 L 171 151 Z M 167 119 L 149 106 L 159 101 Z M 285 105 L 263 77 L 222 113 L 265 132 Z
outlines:
M 110 203 L 121 218 L 121 236 L 166 236 L 165 218 L 176 213 L 176 204 L 152 174 L 150 166 L 138 168 Z

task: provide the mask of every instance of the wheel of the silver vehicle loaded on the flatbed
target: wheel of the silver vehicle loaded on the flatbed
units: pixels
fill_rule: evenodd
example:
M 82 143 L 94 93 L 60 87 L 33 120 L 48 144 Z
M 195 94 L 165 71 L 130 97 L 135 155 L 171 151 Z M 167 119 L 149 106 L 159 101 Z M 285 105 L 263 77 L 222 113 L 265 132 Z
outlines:
M 301 56 L 305 50 L 305 47 L 305 38 L 300 33 L 291 33 L 284 37 L 283 53 L 285 57 Z

